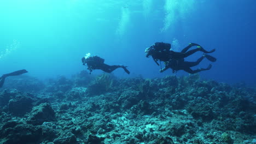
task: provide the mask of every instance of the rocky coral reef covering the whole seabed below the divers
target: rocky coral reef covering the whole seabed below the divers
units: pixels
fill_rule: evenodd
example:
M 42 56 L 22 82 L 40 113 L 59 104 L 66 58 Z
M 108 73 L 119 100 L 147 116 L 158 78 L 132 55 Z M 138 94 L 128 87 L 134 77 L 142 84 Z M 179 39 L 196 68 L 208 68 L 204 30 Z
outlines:
M 28 79 L 29 88 L 0 91 L 0 143 L 256 143 L 253 87 L 199 75 L 118 79 L 82 71 L 35 88 Z

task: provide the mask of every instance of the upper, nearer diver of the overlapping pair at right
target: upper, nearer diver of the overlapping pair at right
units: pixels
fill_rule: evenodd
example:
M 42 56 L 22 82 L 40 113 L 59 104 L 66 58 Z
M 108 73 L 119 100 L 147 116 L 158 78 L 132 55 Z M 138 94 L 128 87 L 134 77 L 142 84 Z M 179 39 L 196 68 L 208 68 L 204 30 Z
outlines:
M 197 46 L 197 49 L 188 51 L 188 49 L 192 46 Z M 146 57 L 152 56 L 155 63 L 157 65 L 159 65 L 158 61 L 167 62 L 170 59 L 185 58 L 185 57 L 192 55 L 193 53 L 195 53 L 197 51 L 202 51 L 203 53 L 212 53 L 215 51 L 215 49 L 213 49 L 211 51 L 206 51 L 205 49 L 203 49 L 202 46 L 200 46 L 199 44 L 195 44 L 195 43 L 190 43 L 181 52 L 174 52 L 170 49 L 171 49 L 171 44 L 156 42 L 154 45 L 148 47 L 145 50 L 145 53 L 146 53 Z

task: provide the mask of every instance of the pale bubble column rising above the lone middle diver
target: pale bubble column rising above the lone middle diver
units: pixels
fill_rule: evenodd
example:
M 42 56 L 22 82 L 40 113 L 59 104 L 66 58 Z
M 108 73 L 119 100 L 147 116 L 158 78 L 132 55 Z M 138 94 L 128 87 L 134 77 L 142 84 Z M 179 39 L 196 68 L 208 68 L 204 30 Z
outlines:
M 130 22 L 130 10 L 127 7 L 122 8 L 122 15 L 117 28 L 117 35 L 122 36 L 127 30 Z

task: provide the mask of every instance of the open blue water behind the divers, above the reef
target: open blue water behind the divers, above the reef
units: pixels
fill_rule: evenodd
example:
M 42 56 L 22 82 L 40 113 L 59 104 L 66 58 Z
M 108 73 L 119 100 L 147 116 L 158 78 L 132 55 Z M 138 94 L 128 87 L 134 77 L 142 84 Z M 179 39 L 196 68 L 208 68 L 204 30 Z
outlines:
M 107 64 L 124 64 L 120 77 L 173 75 L 144 50 L 156 41 L 180 51 L 198 43 L 217 62 L 200 76 L 255 85 L 255 4 L 253 0 L 9 0 L 0 2 L 0 74 L 27 69 L 39 78 L 71 76 L 86 69 L 86 53 Z M 202 55 L 186 58 L 196 61 Z M 207 67 L 204 60 L 198 67 Z M 194 69 L 196 69 L 195 67 Z M 96 70 L 94 74 L 102 71 Z M 188 75 L 178 71 L 177 75 Z

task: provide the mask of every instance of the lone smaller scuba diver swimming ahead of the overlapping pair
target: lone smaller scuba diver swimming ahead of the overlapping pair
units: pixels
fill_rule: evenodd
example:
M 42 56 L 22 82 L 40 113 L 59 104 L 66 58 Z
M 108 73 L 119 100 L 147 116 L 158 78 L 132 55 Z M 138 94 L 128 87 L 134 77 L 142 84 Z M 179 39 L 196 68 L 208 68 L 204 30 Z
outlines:
M 82 58 L 83 65 L 87 64 L 90 74 L 92 70 L 101 69 L 106 73 L 111 73 L 117 68 L 123 68 L 127 74 L 130 74 L 130 71 L 124 65 L 108 65 L 104 63 L 104 59 L 98 56 L 90 56 L 90 53 L 87 53 L 85 57 Z

